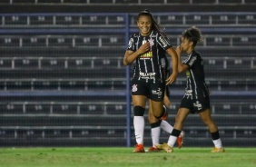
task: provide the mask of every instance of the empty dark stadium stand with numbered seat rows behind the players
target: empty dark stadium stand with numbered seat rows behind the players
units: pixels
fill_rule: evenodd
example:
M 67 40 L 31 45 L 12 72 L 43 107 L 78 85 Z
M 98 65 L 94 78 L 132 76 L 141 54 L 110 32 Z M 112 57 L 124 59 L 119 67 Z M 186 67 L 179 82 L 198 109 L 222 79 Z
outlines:
M 244 5 L 250 0 L 190 0 L 187 5 Z M 156 5 L 180 1 L 3 0 L 5 5 Z M 136 14 L 0 14 L 0 145 L 125 146 L 134 142 L 127 127 L 127 71 L 123 54 Z M 227 146 L 255 145 L 255 12 L 157 13 L 173 46 L 185 27 L 202 29 L 202 53 L 212 91 L 212 116 Z M 128 26 L 128 28 L 127 28 Z M 130 70 L 132 70 L 131 67 Z M 129 71 L 129 70 L 128 70 Z M 182 97 L 185 78 L 170 86 L 169 122 Z M 147 114 L 145 115 L 145 119 Z M 184 124 L 186 145 L 210 145 L 197 115 Z M 128 118 L 129 120 L 129 118 Z M 129 132 L 131 131 L 131 132 Z M 129 134 L 130 133 L 130 134 Z M 131 135 L 131 136 L 130 136 Z M 150 145 L 150 127 L 145 129 Z M 162 132 L 162 141 L 167 133 Z M 127 140 L 129 142 L 127 142 Z M 198 142 L 203 141 L 203 142 Z

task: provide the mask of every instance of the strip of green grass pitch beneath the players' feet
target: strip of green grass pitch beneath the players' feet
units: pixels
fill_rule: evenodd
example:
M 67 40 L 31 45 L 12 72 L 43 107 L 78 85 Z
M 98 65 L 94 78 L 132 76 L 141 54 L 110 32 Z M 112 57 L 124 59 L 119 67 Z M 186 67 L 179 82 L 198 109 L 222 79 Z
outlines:
M 256 148 L 174 149 L 172 153 L 133 153 L 125 147 L 0 148 L 1 167 L 255 167 Z

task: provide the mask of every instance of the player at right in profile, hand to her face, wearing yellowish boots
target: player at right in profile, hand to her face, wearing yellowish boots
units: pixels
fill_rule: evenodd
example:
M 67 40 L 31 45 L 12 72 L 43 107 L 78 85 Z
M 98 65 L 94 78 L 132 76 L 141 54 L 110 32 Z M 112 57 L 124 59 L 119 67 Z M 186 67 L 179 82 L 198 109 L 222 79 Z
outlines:
M 165 152 L 173 151 L 173 145 L 180 135 L 182 124 L 189 113 L 198 113 L 202 122 L 207 125 L 215 146 L 212 152 L 224 152 L 219 130 L 211 116 L 209 90 L 204 81 L 202 57 L 194 50 L 196 44 L 201 40 L 200 30 L 192 26 L 182 33 L 182 44 L 176 48 L 179 57 L 178 72 L 186 72 L 187 84 L 168 143 L 156 144 L 157 148 L 163 149 Z M 181 63 L 182 52 L 188 54 L 183 63 Z

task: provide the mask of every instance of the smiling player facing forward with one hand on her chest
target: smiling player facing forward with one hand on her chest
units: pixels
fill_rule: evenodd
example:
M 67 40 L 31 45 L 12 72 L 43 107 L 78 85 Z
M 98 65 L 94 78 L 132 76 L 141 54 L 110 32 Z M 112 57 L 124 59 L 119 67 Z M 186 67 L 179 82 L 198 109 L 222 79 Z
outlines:
M 160 119 L 164 114 L 163 95 L 165 85 L 175 82 L 177 78 L 178 57 L 167 37 L 160 31 L 153 15 L 142 11 L 137 18 L 139 33 L 133 34 L 123 57 L 123 64 L 133 64 L 135 68 L 132 80 L 133 126 L 137 144 L 133 152 L 145 152 L 143 148 L 143 131 L 145 105 L 149 98 L 152 103 L 153 116 Z M 160 59 L 164 54 L 172 56 L 172 74 L 166 79 Z M 166 81 L 165 81 L 166 80 Z

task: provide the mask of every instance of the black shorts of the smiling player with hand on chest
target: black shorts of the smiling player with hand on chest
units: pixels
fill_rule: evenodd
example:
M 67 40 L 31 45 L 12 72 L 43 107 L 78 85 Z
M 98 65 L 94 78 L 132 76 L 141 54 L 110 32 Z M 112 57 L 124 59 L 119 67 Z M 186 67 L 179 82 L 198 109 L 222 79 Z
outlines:
M 133 80 L 132 81 L 132 94 L 133 95 L 144 95 L 149 99 L 161 102 L 164 96 L 165 83 L 146 83 L 143 81 Z

